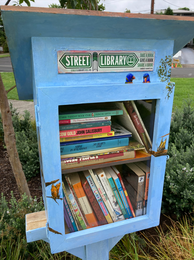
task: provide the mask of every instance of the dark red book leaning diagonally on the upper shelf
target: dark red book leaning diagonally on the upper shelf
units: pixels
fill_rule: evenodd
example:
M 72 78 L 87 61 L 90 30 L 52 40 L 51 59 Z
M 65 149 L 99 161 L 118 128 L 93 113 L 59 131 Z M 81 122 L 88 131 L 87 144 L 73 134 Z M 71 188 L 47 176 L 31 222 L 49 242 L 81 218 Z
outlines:
M 146 147 L 146 150 L 148 150 L 149 153 L 151 153 L 152 148 L 151 148 L 151 146 L 148 142 L 145 131 L 143 130 L 143 127 L 142 127 L 142 125 L 139 121 L 139 118 L 138 118 L 138 116 L 137 116 L 137 114 L 136 114 L 136 112 L 135 112 L 135 110 L 134 110 L 134 108 L 131 104 L 131 101 L 124 101 L 124 105 L 126 107 L 127 112 L 129 113 L 129 116 L 131 117 L 131 119 L 133 121 L 133 124 L 135 125 L 135 127 L 136 127 L 136 129 L 137 129 L 137 131 L 140 135 L 140 138 L 141 138 L 143 144 Z

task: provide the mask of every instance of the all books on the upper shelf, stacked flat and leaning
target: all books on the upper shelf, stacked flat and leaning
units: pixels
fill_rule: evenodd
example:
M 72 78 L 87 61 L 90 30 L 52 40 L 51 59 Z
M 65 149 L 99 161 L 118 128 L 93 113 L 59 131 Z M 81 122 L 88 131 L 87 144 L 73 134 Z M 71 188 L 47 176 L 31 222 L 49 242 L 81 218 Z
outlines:
M 130 109 L 132 101 L 124 103 L 111 103 L 106 110 L 59 111 L 62 170 L 135 158 L 135 150 L 151 151 L 143 121 Z

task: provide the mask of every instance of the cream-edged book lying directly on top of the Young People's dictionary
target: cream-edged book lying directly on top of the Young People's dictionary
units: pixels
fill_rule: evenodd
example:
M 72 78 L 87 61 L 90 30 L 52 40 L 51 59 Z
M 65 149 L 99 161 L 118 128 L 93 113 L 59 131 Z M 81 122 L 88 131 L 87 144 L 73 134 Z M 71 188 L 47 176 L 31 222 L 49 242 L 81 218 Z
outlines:
M 101 155 L 101 154 L 112 153 L 112 152 L 128 152 L 132 150 L 141 150 L 143 148 L 144 146 L 138 142 L 129 142 L 129 145 L 127 146 L 102 149 L 102 150 L 94 150 L 92 154 Z M 82 152 L 82 153 L 70 153 L 70 154 L 61 155 L 61 159 L 80 157 L 80 156 L 90 156 L 90 155 L 91 155 L 91 151 Z

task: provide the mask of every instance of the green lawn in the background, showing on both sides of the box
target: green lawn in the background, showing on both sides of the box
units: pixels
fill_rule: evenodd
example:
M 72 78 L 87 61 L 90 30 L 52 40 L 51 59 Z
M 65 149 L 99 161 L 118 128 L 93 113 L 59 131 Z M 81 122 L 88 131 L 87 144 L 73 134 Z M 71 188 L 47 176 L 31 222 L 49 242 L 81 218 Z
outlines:
M 3 79 L 6 90 L 10 89 L 16 84 L 13 72 L 1 72 L 1 77 Z M 188 95 L 194 101 L 194 78 L 171 78 L 171 81 L 175 82 L 173 111 L 175 109 L 175 106 L 181 107 L 183 103 L 183 98 L 188 98 Z M 17 89 L 14 88 L 10 92 L 8 92 L 7 97 L 8 99 L 19 100 Z

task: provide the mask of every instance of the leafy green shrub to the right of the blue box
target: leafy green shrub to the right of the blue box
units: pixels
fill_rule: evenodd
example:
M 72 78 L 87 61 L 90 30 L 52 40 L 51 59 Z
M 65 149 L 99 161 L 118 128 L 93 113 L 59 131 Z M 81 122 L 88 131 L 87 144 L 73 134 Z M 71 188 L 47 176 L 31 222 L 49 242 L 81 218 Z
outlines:
M 194 209 L 194 109 L 184 100 L 170 126 L 168 155 L 162 197 L 162 213 L 178 217 Z

